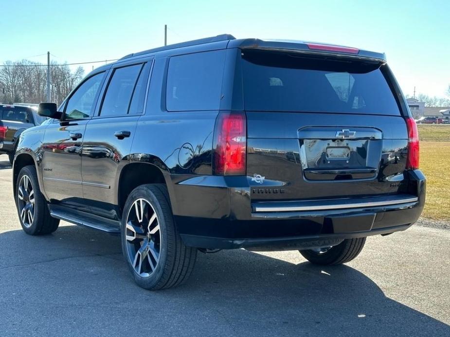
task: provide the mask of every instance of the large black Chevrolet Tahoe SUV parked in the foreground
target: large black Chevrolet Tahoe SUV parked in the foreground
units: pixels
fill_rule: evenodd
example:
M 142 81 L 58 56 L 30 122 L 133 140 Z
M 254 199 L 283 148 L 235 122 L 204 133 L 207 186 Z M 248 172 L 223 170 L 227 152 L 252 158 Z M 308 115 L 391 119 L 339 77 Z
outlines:
M 417 127 L 384 54 L 231 35 L 92 71 L 23 132 L 23 230 L 121 235 L 139 286 L 177 286 L 198 250 L 348 262 L 425 202 Z

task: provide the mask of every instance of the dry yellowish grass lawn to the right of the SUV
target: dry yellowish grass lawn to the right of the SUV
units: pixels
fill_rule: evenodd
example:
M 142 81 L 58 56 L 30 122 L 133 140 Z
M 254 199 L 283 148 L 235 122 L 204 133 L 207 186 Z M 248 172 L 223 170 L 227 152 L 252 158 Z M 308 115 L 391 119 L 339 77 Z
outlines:
M 438 128 L 449 129 L 450 135 L 450 125 Z M 419 129 L 419 135 L 422 130 Z M 450 141 L 421 141 L 420 169 L 427 177 L 427 198 L 422 216 L 450 220 Z

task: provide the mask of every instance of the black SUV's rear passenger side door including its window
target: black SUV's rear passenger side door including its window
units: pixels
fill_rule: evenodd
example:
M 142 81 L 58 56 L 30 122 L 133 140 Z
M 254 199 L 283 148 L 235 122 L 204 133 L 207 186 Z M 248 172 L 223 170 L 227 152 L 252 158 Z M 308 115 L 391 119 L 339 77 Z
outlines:
M 117 219 L 117 184 L 129 151 L 137 121 L 144 111 L 144 97 L 151 60 L 111 69 L 98 113 L 87 125 L 83 138 L 83 195 L 91 211 Z

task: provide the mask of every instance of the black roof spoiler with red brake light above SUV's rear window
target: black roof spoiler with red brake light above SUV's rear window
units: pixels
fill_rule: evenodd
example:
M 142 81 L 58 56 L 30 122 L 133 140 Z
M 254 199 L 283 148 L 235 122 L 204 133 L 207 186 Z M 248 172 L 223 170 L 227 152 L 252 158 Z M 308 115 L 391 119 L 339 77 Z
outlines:
M 236 39 L 230 40 L 228 48 L 260 49 L 273 51 L 292 51 L 299 53 L 334 55 L 344 58 L 357 58 L 386 63 L 386 54 L 374 51 L 364 51 L 357 48 L 336 46 L 324 43 L 291 41 L 291 40 L 260 40 L 260 39 Z

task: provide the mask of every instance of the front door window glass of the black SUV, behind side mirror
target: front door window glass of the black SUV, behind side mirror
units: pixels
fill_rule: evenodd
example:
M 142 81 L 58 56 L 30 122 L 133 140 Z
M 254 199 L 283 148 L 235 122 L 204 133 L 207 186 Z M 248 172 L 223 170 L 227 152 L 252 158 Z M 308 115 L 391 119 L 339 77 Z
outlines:
M 65 120 L 90 117 L 103 75 L 101 72 L 90 77 L 76 89 L 67 102 Z

